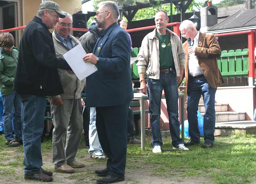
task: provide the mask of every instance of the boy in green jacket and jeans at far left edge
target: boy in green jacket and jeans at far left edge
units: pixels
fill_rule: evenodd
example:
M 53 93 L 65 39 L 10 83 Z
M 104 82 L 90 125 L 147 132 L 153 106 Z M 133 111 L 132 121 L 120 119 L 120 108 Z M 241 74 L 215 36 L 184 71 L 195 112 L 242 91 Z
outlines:
M 22 142 L 21 101 L 17 92 L 13 91 L 13 79 L 18 63 L 18 51 L 13 49 L 13 47 L 13 36 L 9 32 L 0 34 L 0 90 L 3 96 L 3 131 L 6 138 L 5 144 L 19 146 Z M 15 135 L 13 135 L 13 131 Z

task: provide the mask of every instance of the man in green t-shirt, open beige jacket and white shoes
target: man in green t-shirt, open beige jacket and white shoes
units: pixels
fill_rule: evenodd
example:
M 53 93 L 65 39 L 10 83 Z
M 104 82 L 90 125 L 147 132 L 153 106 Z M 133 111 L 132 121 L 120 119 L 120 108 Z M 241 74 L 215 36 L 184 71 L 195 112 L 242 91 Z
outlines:
M 165 11 L 155 15 L 156 29 L 148 33 L 141 44 L 137 66 L 141 92 L 148 93 L 149 115 L 152 128 L 153 153 L 161 152 L 160 133 L 161 96 L 164 90 L 169 116 L 172 145 L 175 150 L 188 150 L 179 137 L 178 84 L 184 73 L 185 52 L 177 34 L 167 29 L 169 18 Z M 148 75 L 146 85 L 144 75 Z

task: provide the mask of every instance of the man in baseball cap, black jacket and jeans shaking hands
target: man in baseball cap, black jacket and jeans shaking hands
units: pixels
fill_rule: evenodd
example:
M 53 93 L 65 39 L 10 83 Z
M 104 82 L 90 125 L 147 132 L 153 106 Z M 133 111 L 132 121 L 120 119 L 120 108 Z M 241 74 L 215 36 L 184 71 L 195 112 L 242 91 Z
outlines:
M 52 181 L 51 171 L 42 168 L 41 136 L 44 130 L 46 96 L 63 94 L 58 68 L 71 70 L 57 58 L 49 29 L 65 17 L 59 5 L 45 1 L 20 39 L 18 65 L 13 89 L 22 102 L 24 178 Z

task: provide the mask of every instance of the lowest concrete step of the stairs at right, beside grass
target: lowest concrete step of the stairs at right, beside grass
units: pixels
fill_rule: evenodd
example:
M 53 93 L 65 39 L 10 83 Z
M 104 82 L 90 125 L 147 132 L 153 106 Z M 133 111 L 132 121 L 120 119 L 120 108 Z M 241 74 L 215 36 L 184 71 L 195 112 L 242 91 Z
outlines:
M 215 123 L 214 135 L 255 134 L 255 121 L 223 121 Z

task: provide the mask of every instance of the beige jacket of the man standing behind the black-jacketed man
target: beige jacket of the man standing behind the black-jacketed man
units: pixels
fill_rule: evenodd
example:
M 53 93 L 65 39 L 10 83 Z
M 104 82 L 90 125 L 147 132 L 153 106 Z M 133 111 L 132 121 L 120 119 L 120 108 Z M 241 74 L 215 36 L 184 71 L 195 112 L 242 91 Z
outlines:
M 61 57 L 64 59 L 63 54 L 69 51 L 60 40 L 57 39 L 55 32 L 52 33 L 53 43 L 55 47 L 55 52 L 57 57 Z M 73 40 L 72 46 L 74 47 L 76 44 L 81 43 L 73 36 L 71 36 Z M 59 78 L 61 80 L 61 85 L 63 87 L 64 93 L 57 96 L 48 96 L 51 100 L 56 100 L 57 98 L 62 99 L 79 99 L 81 98 L 81 92 L 84 89 L 86 80 L 79 80 L 75 74 L 70 74 L 66 70 L 58 69 Z

